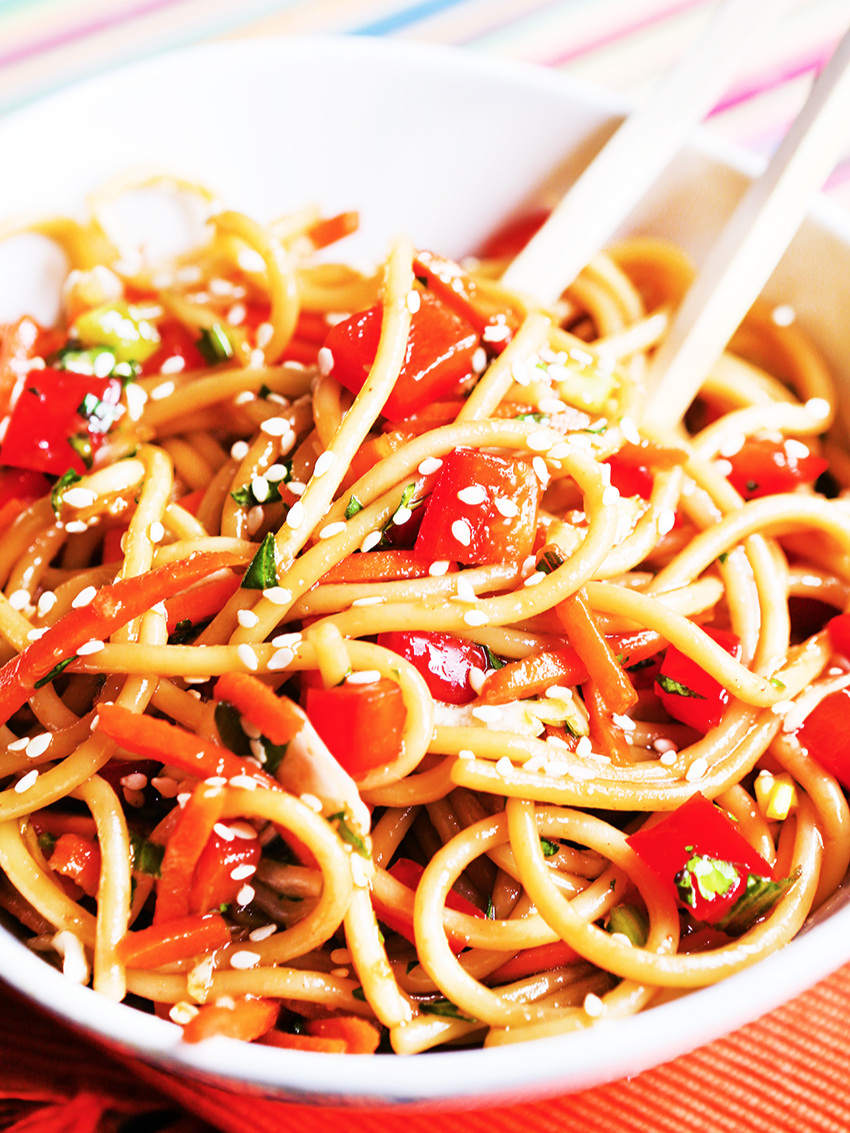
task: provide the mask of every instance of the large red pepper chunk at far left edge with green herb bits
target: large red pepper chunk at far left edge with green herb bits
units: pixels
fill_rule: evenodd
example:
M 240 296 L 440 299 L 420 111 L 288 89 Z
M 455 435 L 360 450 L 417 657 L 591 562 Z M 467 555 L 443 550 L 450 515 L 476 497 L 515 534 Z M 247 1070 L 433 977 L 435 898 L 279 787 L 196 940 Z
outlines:
M 120 415 L 121 383 L 71 370 L 37 369 L 27 375 L 0 446 L 14 468 L 61 476 L 85 472 Z

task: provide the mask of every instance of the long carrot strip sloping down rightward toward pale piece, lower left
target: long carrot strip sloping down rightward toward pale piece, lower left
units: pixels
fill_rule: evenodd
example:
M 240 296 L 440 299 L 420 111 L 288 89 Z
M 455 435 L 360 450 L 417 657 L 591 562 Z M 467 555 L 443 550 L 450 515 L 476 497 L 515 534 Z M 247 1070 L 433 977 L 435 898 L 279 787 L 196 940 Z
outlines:
M 141 716 L 120 705 L 102 704 L 97 707 L 96 729 L 126 751 L 180 767 L 198 778 L 248 775 L 263 786 L 280 790 L 277 780 L 241 756 L 235 756 L 227 748 L 194 735 L 177 724 L 169 724 L 168 721 Z

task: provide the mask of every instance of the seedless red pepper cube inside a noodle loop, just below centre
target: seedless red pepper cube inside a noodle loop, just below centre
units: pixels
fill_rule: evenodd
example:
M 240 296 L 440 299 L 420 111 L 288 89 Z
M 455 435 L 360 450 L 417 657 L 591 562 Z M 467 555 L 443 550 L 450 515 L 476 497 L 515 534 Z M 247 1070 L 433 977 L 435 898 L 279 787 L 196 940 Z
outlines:
M 407 709 L 394 681 L 307 688 L 305 708 L 331 755 L 355 778 L 398 759 Z

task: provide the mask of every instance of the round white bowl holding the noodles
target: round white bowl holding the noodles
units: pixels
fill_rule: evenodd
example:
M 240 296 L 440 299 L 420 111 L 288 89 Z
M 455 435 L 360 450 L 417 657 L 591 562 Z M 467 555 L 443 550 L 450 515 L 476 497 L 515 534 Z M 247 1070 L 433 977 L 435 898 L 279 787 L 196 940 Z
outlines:
M 461 51 L 364 39 L 215 44 L 84 83 L 0 122 L 0 218 L 78 210 L 104 178 L 147 164 L 199 179 L 261 219 L 314 201 L 358 208 L 355 256 L 379 258 L 398 231 L 459 256 L 569 184 L 618 109 L 558 73 Z M 751 172 L 703 135 L 626 230 L 669 237 L 698 261 Z M 27 288 L 45 289 L 39 272 L 11 286 L 6 278 L 0 307 L 26 306 Z M 768 293 L 793 304 L 850 383 L 848 218 L 819 203 Z M 349 1058 L 182 1043 L 173 1024 L 66 981 L 0 930 L 3 978 L 109 1047 L 220 1085 L 326 1105 L 503 1104 L 597 1085 L 742 1025 L 848 960 L 850 908 L 839 897 L 757 968 L 634 1019 L 525 1046 Z

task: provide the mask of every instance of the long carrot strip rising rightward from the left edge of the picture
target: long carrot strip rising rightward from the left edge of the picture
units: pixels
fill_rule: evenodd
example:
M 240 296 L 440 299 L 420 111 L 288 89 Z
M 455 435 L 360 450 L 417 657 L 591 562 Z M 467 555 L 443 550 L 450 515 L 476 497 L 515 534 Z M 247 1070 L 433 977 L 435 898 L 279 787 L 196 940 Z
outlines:
M 179 594 L 222 566 L 239 562 L 244 562 L 243 555 L 201 553 L 104 586 L 87 605 L 69 610 L 46 633 L 0 668 L 0 719 L 9 719 L 26 704 L 40 680 L 48 678 L 62 662 L 73 661 L 86 641 L 105 640 L 120 625 L 158 602 Z

